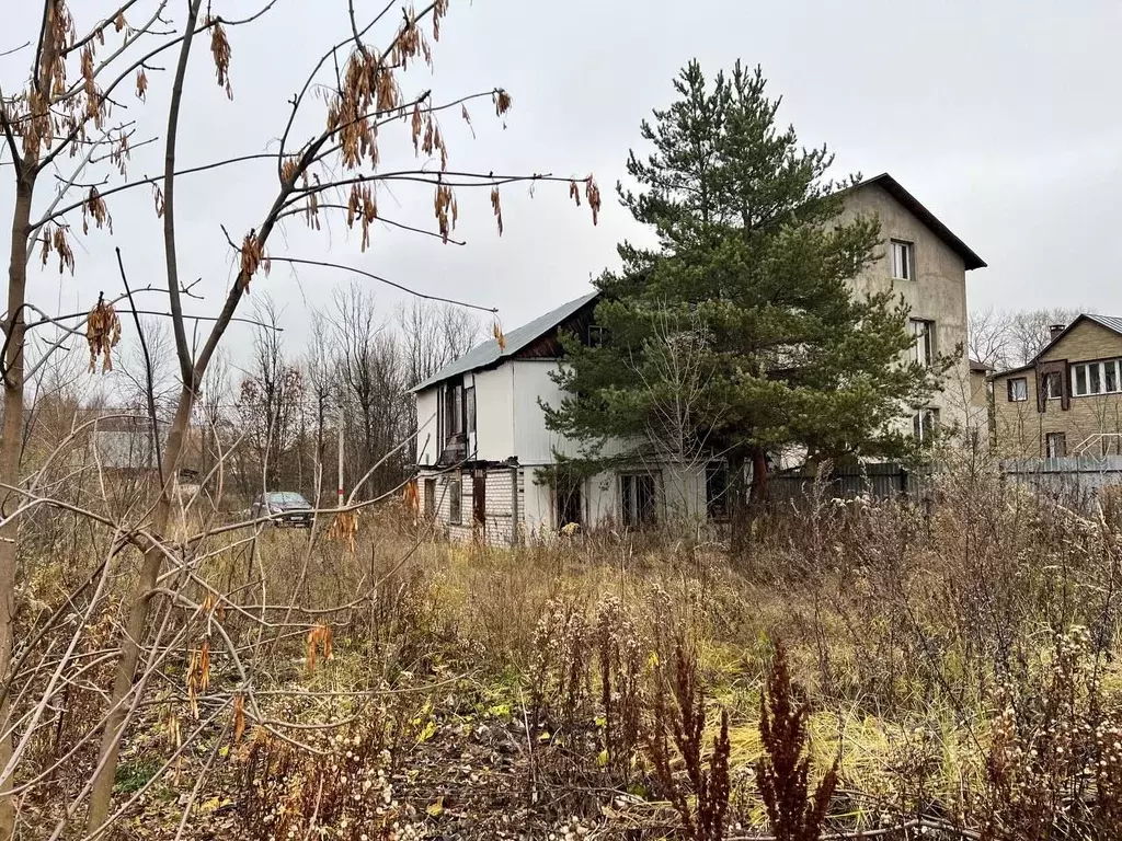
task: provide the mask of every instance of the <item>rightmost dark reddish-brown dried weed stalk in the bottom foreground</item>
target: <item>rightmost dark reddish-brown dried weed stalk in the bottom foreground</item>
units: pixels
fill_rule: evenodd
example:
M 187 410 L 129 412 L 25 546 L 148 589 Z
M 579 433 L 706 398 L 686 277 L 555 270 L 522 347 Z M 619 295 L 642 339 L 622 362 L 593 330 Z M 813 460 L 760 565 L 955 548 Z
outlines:
M 809 796 L 807 751 L 809 704 L 791 682 L 787 653 L 775 646 L 760 699 L 760 737 L 764 756 L 756 763 L 756 786 L 776 841 L 818 841 L 837 785 L 837 761 Z

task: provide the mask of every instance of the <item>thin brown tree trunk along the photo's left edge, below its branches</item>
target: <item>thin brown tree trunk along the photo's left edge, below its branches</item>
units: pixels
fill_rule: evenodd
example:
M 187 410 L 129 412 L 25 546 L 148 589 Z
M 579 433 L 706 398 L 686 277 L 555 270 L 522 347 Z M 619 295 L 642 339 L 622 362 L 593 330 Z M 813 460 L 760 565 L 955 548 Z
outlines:
M 25 156 L 24 175 L 16 186 L 16 207 L 11 222 L 11 256 L 8 264 L 8 322 L 4 324 L 8 349 L 3 366 L 3 427 L 0 432 L 0 483 L 19 486 L 19 456 L 22 451 L 24 423 L 24 304 L 27 296 L 27 231 L 31 219 L 31 196 L 35 193 L 36 170 L 34 160 Z M 30 164 L 30 165 L 28 165 Z M 0 492 L 3 514 L 19 505 L 18 495 Z M 11 678 L 16 637 L 16 551 L 19 546 L 18 518 L 0 526 L 0 684 Z M 10 704 L 6 697 L 0 703 L 0 729 L 9 727 Z M 0 769 L 7 767 L 12 755 L 12 737 L 0 739 Z M 10 795 L 12 779 L 0 783 L 0 841 L 8 841 L 16 832 L 16 814 Z

